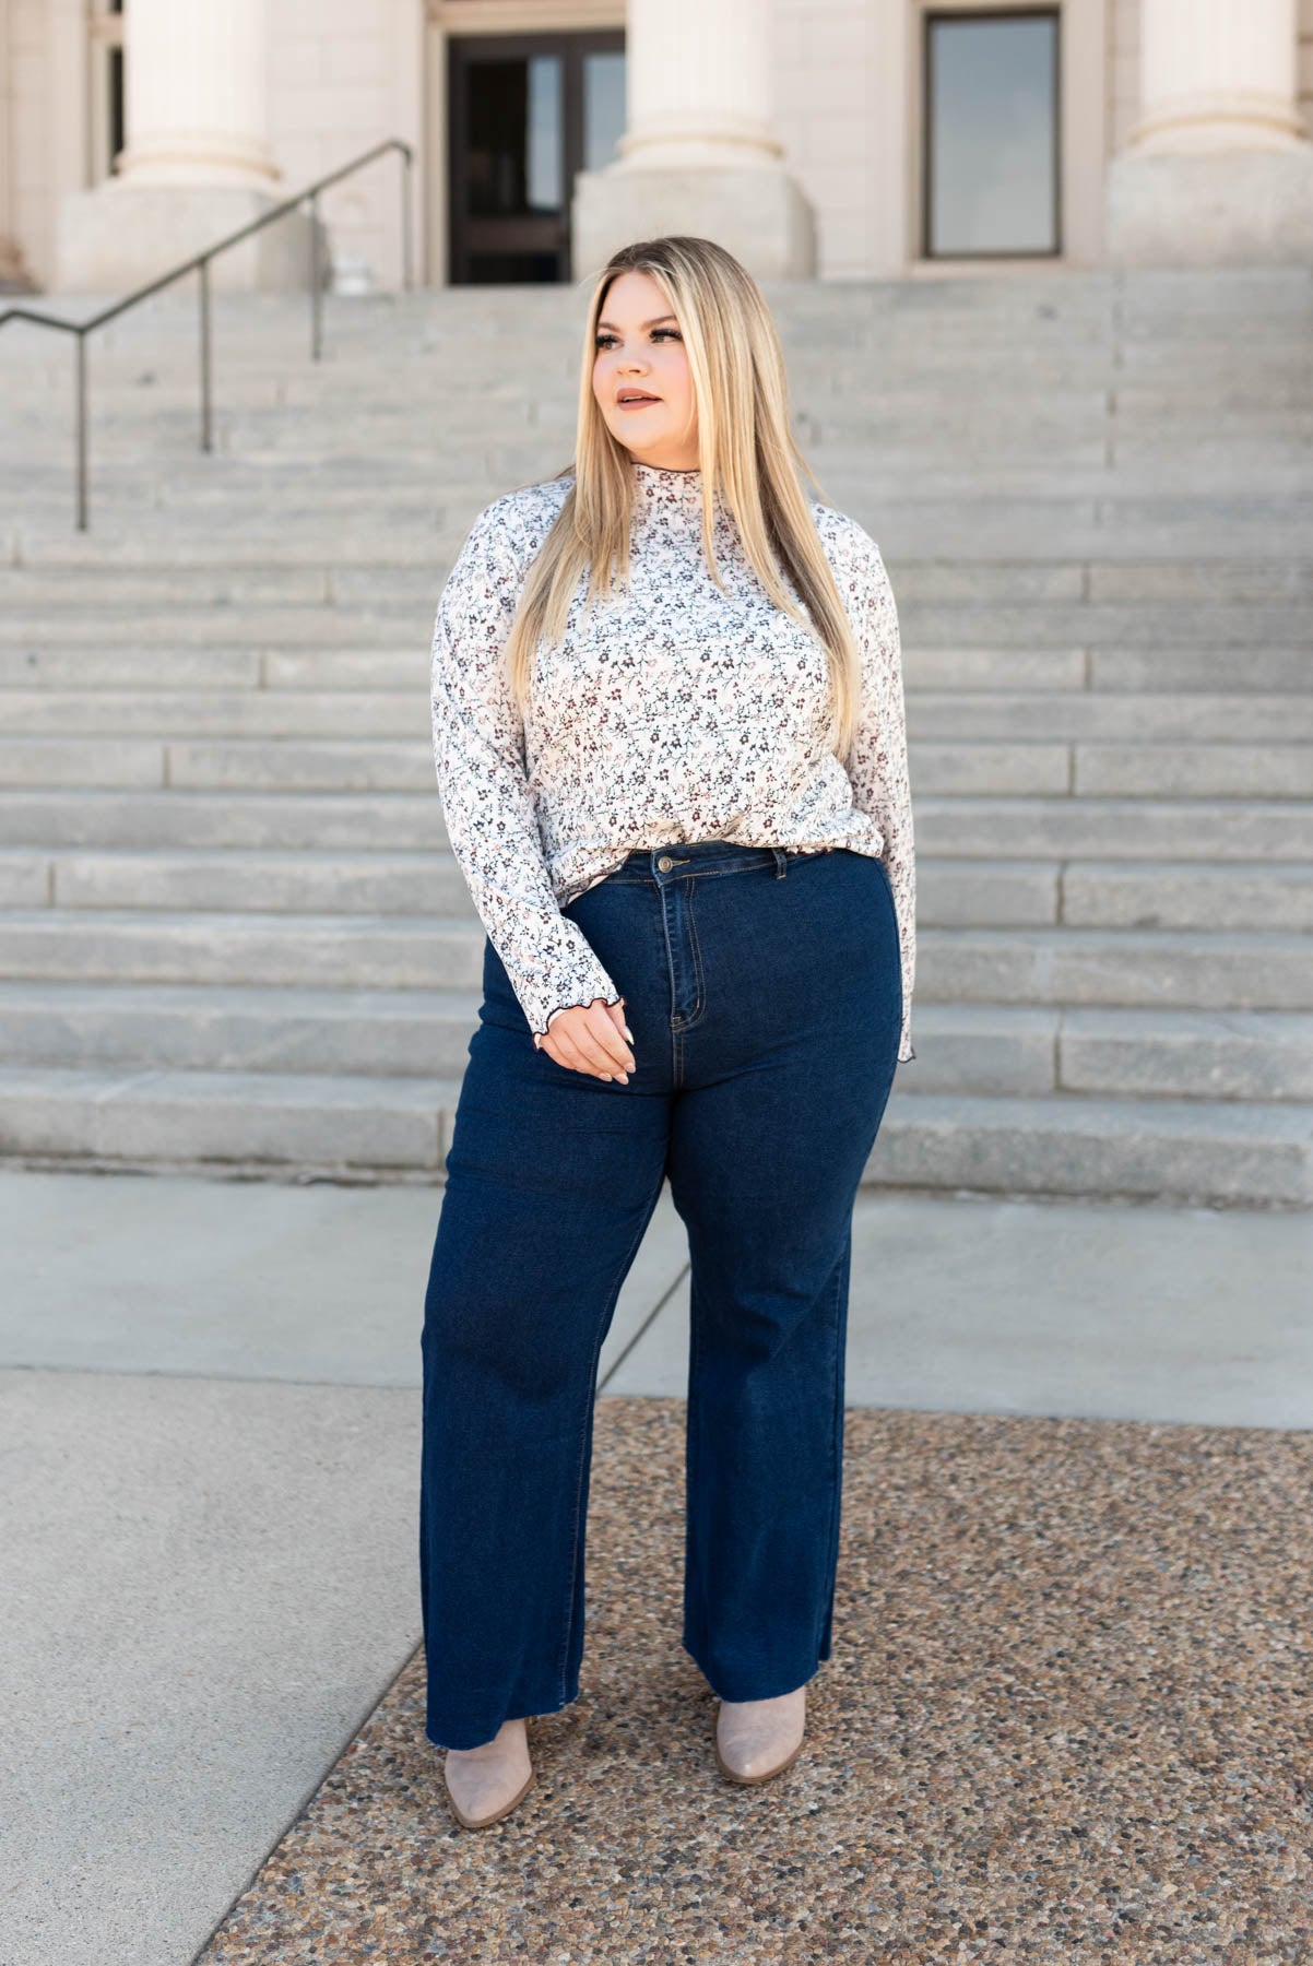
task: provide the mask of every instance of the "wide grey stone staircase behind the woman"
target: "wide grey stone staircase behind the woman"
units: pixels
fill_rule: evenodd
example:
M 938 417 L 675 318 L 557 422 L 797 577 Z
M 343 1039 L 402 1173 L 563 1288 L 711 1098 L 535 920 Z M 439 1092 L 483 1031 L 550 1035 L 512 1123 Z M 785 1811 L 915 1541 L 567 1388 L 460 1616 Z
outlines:
M 918 1056 L 869 1182 L 1313 1205 L 1313 275 L 769 289 L 898 598 Z M 55 303 L 47 303 L 55 305 Z M 61 303 L 77 313 L 81 303 Z M 88 305 L 88 303 L 85 303 Z M 428 743 L 474 511 L 570 454 L 580 301 L 0 336 L 0 1154 L 442 1178 L 482 926 Z

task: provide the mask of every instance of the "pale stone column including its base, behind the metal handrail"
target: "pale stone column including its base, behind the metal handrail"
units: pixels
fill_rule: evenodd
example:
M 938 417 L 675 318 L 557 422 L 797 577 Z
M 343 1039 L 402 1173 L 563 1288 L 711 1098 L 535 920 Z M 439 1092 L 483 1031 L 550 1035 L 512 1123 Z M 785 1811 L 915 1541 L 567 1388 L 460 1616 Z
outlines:
M 120 293 L 279 204 L 267 142 L 265 0 L 128 0 L 116 171 L 63 201 L 59 287 Z M 309 214 L 289 212 L 210 265 L 214 289 L 303 287 Z

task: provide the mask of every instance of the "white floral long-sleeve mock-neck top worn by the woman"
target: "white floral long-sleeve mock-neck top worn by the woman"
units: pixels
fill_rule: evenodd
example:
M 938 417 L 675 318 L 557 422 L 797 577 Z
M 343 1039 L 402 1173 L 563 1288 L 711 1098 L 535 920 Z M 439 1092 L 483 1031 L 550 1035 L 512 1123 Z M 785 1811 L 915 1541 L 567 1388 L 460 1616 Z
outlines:
M 702 552 L 702 472 L 633 462 L 629 594 L 586 574 L 564 637 L 535 651 L 519 716 L 503 651 L 525 572 L 574 482 L 507 492 L 456 556 L 432 633 L 432 743 L 446 834 L 535 1044 L 570 1005 L 621 993 L 562 914 L 635 847 L 733 839 L 851 847 L 885 861 L 898 916 L 910 1038 L 916 863 L 898 613 L 881 550 L 839 511 L 812 515 L 861 651 L 851 769 L 826 747 L 826 651 L 771 602 L 717 495 Z M 800 602 L 806 613 L 806 604 Z

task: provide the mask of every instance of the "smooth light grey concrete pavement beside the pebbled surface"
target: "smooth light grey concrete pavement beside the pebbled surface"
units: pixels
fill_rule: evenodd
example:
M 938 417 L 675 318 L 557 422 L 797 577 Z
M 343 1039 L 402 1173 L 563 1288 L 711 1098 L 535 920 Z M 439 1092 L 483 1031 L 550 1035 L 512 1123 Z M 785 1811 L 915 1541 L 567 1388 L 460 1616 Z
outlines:
M 0 1966 L 185 1966 L 419 1638 L 436 1187 L 4 1172 Z M 1313 1217 L 869 1195 L 847 1404 L 1311 1427 Z M 668 1191 L 601 1357 L 680 1394 Z

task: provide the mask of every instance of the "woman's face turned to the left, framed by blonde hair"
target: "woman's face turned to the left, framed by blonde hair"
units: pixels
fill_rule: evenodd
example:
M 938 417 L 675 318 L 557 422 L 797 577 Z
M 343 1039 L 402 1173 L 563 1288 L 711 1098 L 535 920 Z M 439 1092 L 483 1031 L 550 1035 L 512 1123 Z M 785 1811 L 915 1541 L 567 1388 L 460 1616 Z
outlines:
M 598 322 L 594 395 L 607 429 L 641 464 L 692 470 L 698 413 L 680 324 L 651 273 L 617 273 Z M 637 395 L 633 409 L 625 397 Z

